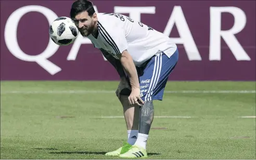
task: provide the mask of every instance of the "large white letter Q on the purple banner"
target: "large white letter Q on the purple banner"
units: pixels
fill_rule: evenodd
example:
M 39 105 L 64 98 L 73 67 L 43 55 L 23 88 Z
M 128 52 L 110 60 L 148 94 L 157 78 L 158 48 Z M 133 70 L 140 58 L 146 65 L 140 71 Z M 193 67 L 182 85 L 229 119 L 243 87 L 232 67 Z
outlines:
M 61 70 L 60 67 L 55 65 L 54 63 L 47 60 L 50 56 L 52 56 L 59 48 L 50 38 L 47 48 L 38 55 L 28 55 L 25 54 L 19 47 L 17 41 L 17 27 L 21 17 L 28 12 L 36 11 L 44 14 L 47 18 L 49 24 L 52 23 L 56 18 L 58 18 L 57 14 L 52 10 L 43 7 L 43 6 L 24 6 L 13 13 L 11 13 L 10 17 L 8 18 L 6 25 L 5 25 L 5 42 L 6 46 L 18 59 L 27 61 L 27 62 L 36 62 L 45 70 L 47 70 L 51 75 L 56 74 Z M 33 22 L 31 22 L 33 23 Z M 48 34 L 48 33 L 45 33 Z

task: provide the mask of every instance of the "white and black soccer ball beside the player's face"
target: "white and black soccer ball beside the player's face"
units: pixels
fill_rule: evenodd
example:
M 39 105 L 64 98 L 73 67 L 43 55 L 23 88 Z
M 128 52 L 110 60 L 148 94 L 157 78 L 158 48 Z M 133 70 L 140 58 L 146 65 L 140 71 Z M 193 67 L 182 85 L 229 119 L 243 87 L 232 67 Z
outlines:
M 59 17 L 50 24 L 50 38 L 59 46 L 68 46 L 78 36 L 78 28 L 68 17 Z

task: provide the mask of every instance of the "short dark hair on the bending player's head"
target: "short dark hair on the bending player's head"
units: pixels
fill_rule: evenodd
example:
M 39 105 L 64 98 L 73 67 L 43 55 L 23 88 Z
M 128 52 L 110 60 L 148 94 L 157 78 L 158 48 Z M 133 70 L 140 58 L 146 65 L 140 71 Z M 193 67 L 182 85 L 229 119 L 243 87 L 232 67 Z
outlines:
M 95 10 L 93 8 L 93 3 L 91 1 L 87 1 L 87 0 L 78 0 L 75 1 L 72 4 L 71 10 L 70 10 L 70 17 L 71 19 L 74 19 L 74 17 L 81 13 L 87 11 L 88 15 L 90 17 L 93 16 L 93 14 L 95 13 Z

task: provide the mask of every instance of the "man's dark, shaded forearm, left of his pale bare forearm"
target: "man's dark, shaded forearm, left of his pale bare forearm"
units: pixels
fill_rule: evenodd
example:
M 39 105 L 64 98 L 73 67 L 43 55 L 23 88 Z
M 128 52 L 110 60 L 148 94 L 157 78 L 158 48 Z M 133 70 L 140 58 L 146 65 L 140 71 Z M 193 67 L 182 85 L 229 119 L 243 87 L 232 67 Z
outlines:
M 125 73 L 123 70 L 123 66 L 121 64 L 121 62 L 117 59 L 115 59 L 111 54 L 109 54 L 107 51 L 100 49 L 101 53 L 103 53 L 103 56 L 105 57 L 105 59 L 108 60 L 108 62 L 110 62 L 112 64 L 112 66 L 114 66 L 114 68 L 116 68 L 120 78 L 125 78 Z

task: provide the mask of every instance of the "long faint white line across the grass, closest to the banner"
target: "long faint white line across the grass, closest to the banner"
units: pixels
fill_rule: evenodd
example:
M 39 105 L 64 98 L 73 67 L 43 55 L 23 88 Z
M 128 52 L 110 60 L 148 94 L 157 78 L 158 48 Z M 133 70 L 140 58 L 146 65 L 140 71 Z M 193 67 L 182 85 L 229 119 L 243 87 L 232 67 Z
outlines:
M 92 94 L 92 93 L 112 93 L 114 90 L 67 90 L 67 91 L 1 91 L 1 94 Z M 164 91 L 164 93 L 238 93 L 238 94 L 251 94 L 256 93 L 255 90 L 220 90 L 220 91 L 193 91 L 193 90 L 184 90 L 184 91 Z

